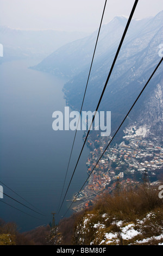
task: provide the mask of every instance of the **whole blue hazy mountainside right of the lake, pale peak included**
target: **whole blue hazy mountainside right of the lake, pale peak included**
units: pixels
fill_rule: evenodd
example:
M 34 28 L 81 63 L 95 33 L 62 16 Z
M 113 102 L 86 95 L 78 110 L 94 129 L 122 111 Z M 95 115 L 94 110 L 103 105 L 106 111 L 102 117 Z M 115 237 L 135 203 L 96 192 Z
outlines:
M 120 124 L 161 59 L 159 45 L 162 42 L 162 17 L 163 11 L 155 17 L 131 22 L 99 107 L 99 110 L 111 111 L 112 131 Z M 102 27 L 83 110 L 96 109 L 126 23 L 126 17 L 115 17 L 108 25 Z M 74 109 L 79 110 L 82 103 L 96 37 L 97 31 L 82 40 L 67 44 L 34 67 L 36 70 L 70 77 L 70 81 L 65 84 L 64 92 L 68 104 Z M 150 104 L 146 103 L 148 109 L 150 105 L 153 111 L 151 115 L 156 117 L 154 112 L 160 113 L 158 108 L 161 103 L 152 107 L 151 95 L 156 97 L 158 85 L 162 92 L 161 79 L 160 67 L 137 102 L 139 110 L 136 111 L 134 108 L 131 113 L 131 116 L 134 113 L 135 120 L 145 109 L 143 104 L 148 102 L 148 99 L 151 99 Z

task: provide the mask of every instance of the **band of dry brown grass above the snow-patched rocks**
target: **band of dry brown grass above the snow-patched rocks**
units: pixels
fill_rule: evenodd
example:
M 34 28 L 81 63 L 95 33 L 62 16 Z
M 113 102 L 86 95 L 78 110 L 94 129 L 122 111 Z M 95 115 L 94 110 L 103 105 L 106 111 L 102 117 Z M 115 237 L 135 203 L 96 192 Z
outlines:
M 158 197 L 158 188 L 140 186 L 115 193 L 114 196 L 106 193 L 98 200 L 92 214 L 108 213 L 110 217 L 116 214 L 120 220 L 134 221 L 135 218 L 145 216 L 147 212 L 162 205 L 162 200 Z

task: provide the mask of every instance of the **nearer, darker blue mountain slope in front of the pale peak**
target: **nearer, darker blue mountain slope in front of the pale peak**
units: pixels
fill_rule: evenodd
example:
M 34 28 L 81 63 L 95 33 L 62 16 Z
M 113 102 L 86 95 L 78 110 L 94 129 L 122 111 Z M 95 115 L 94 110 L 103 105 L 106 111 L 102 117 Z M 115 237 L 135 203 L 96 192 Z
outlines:
M 140 92 L 142 85 L 148 80 L 154 67 L 158 64 L 159 44 L 162 38 L 162 23 L 160 17 L 163 12 L 158 14 L 153 20 L 148 21 L 148 25 L 141 27 L 139 33 L 133 33 L 124 41 L 120 56 L 117 59 L 115 68 L 110 77 L 110 81 L 105 91 L 102 109 L 111 110 L 117 108 L 124 110 L 136 93 Z M 156 28 L 157 26 L 157 28 Z M 151 31 L 151 32 L 150 32 Z M 117 33 L 118 34 L 118 33 Z M 104 42 L 103 42 L 104 44 Z M 93 65 L 89 87 L 87 88 L 85 108 L 95 110 L 95 102 L 99 100 L 106 77 L 114 59 L 116 48 L 114 50 L 108 48 L 105 54 L 96 59 Z M 160 82 L 159 74 L 157 74 L 156 82 Z M 78 76 L 75 76 L 65 84 L 65 95 L 68 103 L 76 109 L 80 108 L 82 101 L 87 71 L 83 70 Z M 154 85 L 156 86 L 156 84 Z M 127 96 L 127 97 L 126 97 Z M 117 101 L 118 99 L 118 101 Z M 128 101 L 126 101 L 128 99 Z M 125 102 L 125 106 L 123 104 Z

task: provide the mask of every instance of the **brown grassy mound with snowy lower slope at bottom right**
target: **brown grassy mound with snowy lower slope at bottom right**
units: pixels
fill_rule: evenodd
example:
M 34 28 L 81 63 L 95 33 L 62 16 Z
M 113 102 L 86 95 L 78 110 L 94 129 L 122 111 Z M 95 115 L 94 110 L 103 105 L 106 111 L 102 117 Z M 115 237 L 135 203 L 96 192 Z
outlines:
M 114 195 L 106 192 L 92 208 L 61 221 L 60 239 L 54 236 L 54 241 L 80 246 L 162 245 L 162 213 L 158 187 L 133 188 Z M 68 229 L 70 225 L 73 230 Z

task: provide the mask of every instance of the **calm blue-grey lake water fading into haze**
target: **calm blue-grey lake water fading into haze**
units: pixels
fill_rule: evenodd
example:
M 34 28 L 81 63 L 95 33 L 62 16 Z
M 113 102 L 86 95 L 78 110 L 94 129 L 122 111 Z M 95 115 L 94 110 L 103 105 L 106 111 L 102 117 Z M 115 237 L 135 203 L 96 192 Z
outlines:
M 36 220 L 0 203 L 0 218 L 16 222 L 21 231 L 52 221 L 51 212 L 58 209 L 74 138 L 73 131 L 52 129 L 52 113 L 64 112 L 66 106 L 62 93 L 65 80 L 28 69 L 36 63 L 18 60 L 0 65 L 0 181 L 47 215 L 40 216 L 4 196 L 3 202 L 41 218 Z M 82 135 L 82 131 L 77 133 L 66 184 L 82 148 Z M 71 199 L 87 178 L 88 155 L 89 150 L 85 148 L 66 199 Z M 9 196 L 32 207 L 7 187 L 3 188 Z M 65 214 L 68 204 L 65 202 L 56 222 Z

